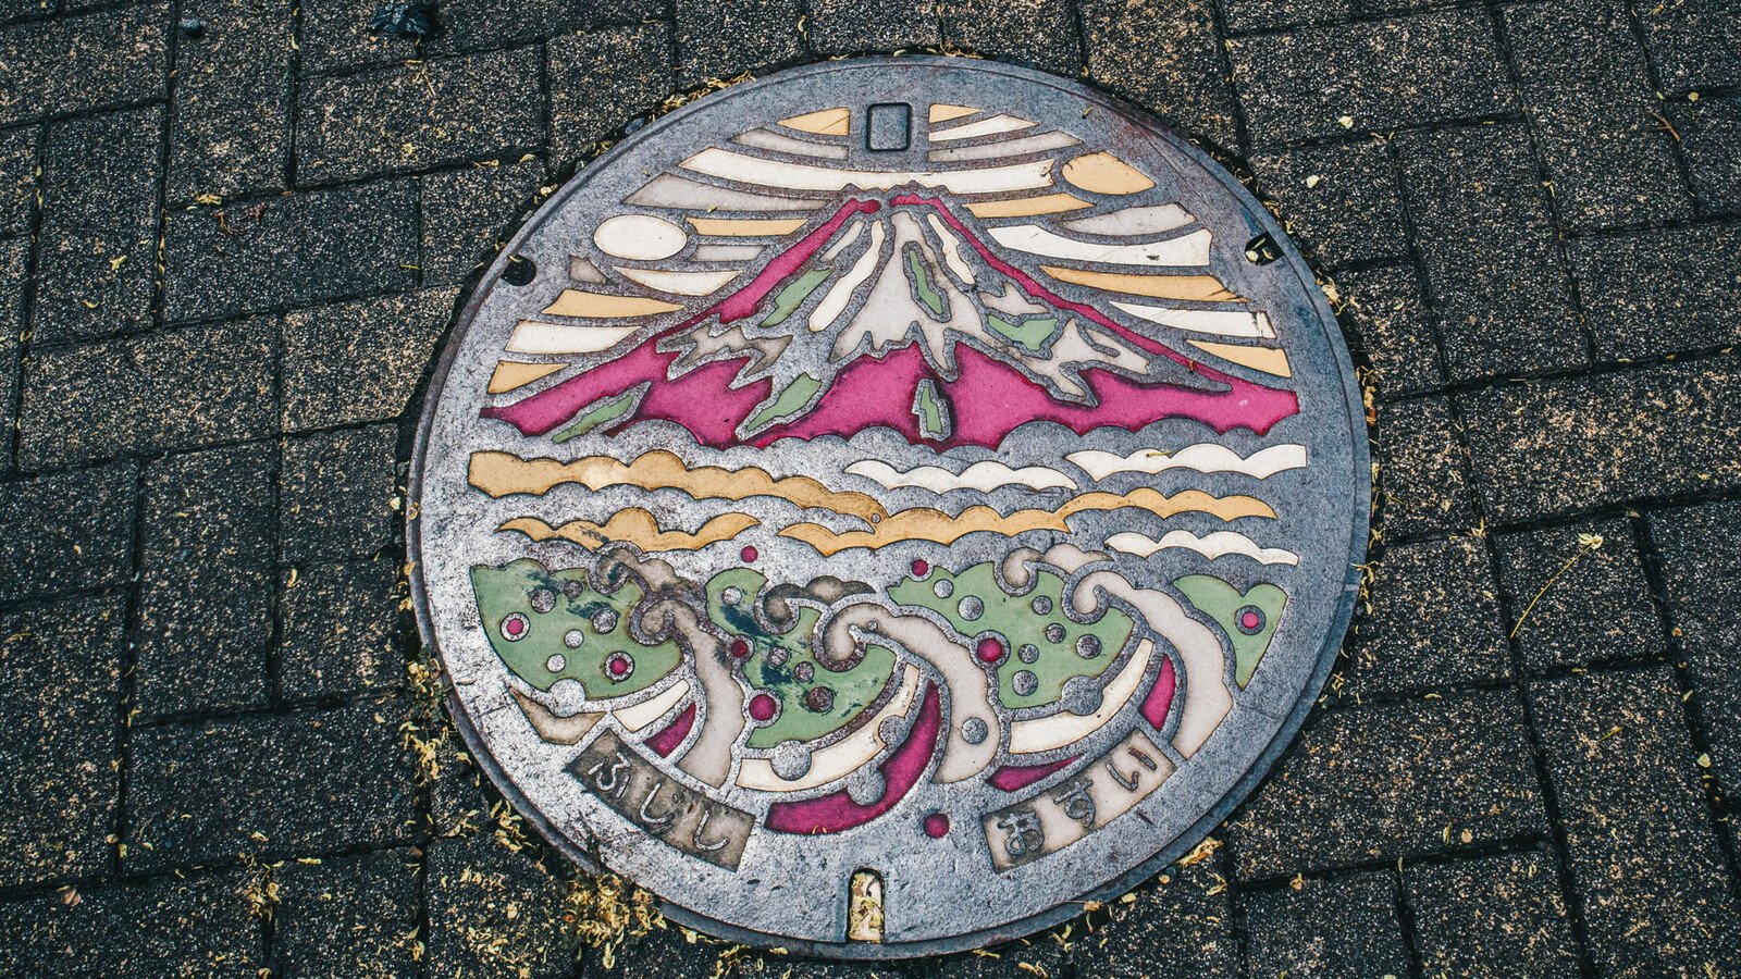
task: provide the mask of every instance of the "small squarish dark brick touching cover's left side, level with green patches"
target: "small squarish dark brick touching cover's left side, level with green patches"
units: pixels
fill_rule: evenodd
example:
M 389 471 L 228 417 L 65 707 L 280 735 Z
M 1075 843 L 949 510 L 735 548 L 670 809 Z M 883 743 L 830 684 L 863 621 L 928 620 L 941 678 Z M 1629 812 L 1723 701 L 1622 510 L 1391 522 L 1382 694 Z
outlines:
M 393 561 L 346 561 L 298 568 L 284 589 L 284 650 L 279 685 L 286 697 L 338 697 L 404 683 Z

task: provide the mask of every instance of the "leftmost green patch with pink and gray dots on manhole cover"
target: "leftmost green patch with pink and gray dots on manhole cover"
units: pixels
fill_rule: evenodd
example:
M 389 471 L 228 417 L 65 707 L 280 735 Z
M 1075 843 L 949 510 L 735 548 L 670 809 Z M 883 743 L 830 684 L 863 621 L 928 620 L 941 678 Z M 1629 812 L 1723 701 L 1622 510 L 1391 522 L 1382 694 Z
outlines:
M 559 679 L 575 679 L 587 692 L 587 700 L 629 697 L 665 679 L 682 664 L 682 646 L 676 641 L 649 646 L 629 634 L 629 617 L 642 598 L 634 578 L 613 594 L 602 594 L 590 587 L 585 568 L 548 571 L 536 559 L 521 557 L 501 568 L 474 566 L 472 589 L 491 648 L 514 676 L 538 690 L 548 692 Z M 540 592 L 548 592 L 547 611 L 538 611 L 543 599 L 533 601 Z M 615 613 L 611 629 L 595 627 L 601 611 Z M 524 638 L 517 641 L 503 634 L 503 622 L 514 613 L 528 622 Z M 580 646 L 564 639 L 575 631 L 580 632 Z M 618 652 L 634 658 L 634 669 L 625 678 L 613 678 L 606 667 L 611 653 Z M 552 671 L 552 662 L 559 662 L 561 669 Z

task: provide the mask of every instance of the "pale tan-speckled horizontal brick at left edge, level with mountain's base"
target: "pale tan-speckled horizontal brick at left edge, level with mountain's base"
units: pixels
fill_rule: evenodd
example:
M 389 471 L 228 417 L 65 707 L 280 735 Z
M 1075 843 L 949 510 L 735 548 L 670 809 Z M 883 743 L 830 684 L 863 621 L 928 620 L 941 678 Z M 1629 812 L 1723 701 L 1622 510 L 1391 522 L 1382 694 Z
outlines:
M 19 465 L 270 434 L 277 338 L 266 319 L 193 326 L 31 355 Z

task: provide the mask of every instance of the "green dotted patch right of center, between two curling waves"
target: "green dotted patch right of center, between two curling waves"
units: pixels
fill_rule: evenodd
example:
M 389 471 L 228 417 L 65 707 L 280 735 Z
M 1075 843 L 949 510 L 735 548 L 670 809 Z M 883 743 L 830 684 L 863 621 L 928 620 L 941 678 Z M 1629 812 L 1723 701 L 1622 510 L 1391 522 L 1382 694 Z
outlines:
M 991 561 L 973 564 L 958 575 L 944 568 L 933 570 L 926 578 L 905 578 L 893 589 L 890 598 L 900 604 L 916 604 L 942 615 L 949 625 L 963 636 L 977 636 L 996 631 L 1010 643 L 1008 657 L 998 665 L 998 702 L 1005 707 L 1046 707 L 1057 704 L 1064 695 L 1064 685 L 1076 676 L 1095 678 L 1112 665 L 1125 648 L 1135 622 L 1116 608 L 1107 608 L 1099 620 L 1081 624 L 1064 613 L 1064 578 L 1052 571 L 1034 568 L 1034 587 L 1027 594 L 1008 594 L 998 584 Z M 947 580 L 952 585 L 949 598 L 937 596 L 937 582 Z M 968 596 L 977 598 L 984 611 L 978 618 L 965 618 L 961 603 Z M 1048 611 L 1036 611 L 1036 599 Z M 1059 625 L 1064 632 L 1053 643 L 1046 638 L 1046 627 Z M 1076 643 L 1092 638 L 1100 652 L 1085 658 L 1076 653 Z M 1022 662 L 1018 650 L 1034 646 L 1039 657 Z M 973 655 L 973 653 L 970 653 Z M 1038 679 L 1032 693 L 1017 693 L 1015 674 L 1027 671 Z

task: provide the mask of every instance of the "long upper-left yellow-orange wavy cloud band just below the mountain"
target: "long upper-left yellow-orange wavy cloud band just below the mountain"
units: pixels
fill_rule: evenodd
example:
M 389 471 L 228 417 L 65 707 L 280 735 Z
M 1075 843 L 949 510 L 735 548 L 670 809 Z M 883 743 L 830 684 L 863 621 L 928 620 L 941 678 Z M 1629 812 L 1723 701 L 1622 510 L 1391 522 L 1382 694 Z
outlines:
M 696 500 L 773 496 L 797 507 L 832 510 L 865 523 L 883 519 L 888 514 L 874 496 L 829 490 L 808 476 L 775 479 L 756 467 L 719 469 L 703 465 L 689 469 L 681 458 L 663 449 L 642 453 L 629 465 L 601 455 L 564 463 L 554 458 L 521 458 L 510 453 L 472 453 L 468 479 L 472 486 L 496 498 L 510 493 L 541 496 L 564 483 L 576 483 L 592 491 L 604 490 L 606 486 L 682 490 Z

